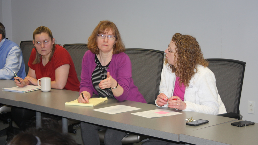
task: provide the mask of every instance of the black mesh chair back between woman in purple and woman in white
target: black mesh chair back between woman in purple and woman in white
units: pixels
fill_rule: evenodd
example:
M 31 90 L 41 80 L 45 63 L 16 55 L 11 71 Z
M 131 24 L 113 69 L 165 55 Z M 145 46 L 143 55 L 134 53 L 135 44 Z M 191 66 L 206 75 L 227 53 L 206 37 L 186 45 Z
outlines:
M 147 103 L 155 104 L 163 68 L 164 51 L 126 49 L 132 62 L 132 78 Z

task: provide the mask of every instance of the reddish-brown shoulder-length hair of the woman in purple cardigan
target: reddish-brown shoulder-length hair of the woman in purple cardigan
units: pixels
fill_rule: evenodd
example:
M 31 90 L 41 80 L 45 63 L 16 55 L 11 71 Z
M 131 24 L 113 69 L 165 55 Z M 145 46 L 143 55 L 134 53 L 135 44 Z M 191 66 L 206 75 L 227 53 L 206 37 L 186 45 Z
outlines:
M 125 52 L 125 45 L 122 41 L 120 33 L 115 25 L 115 23 L 110 21 L 100 21 L 98 26 L 93 30 L 91 36 L 88 38 L 88 49 L 94 53 L 99 54 L 99 48 L 97 44 L 98 34 L 105 34 L 109 30 L 112 31 L 112 34 L 116 37 L 116 42 L 113 46 L 113 54 L 118 54 L 120 52 Z

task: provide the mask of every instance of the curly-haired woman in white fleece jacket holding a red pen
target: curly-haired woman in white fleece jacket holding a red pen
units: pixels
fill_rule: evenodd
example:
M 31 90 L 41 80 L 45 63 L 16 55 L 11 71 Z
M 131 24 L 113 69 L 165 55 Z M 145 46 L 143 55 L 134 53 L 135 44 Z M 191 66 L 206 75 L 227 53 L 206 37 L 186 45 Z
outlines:
M 207 68 L 208 62 L 195 37 L 176 33 L 165 52 L 156 105 L 213 115 L 226 113 L 217 91 L 215 76 Z M 177 143 L 157 139 L 143 143 L 154 144 Z

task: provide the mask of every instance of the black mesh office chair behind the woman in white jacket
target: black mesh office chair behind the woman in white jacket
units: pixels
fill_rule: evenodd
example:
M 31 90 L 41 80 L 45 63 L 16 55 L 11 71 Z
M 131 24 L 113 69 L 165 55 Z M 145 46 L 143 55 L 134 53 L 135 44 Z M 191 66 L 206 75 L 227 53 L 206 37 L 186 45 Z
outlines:
M 232 59 L 207 59 L 216 86 L 228 113 L 219 116 L 242 119 L 239 111 L 246 62 Z

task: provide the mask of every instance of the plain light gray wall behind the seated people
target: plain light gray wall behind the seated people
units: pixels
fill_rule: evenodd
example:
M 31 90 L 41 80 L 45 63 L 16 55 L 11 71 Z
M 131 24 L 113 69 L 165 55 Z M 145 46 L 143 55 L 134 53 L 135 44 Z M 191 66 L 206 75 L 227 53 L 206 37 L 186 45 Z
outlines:
M 101 20 L 117 25 L 126 48 L 165 51 L 174 33 L 195 36 L 205 58 L 228 58 L 247 63 L 240 111 L 244 120 L 257 122 L 257 115 L 247 113 L 247 105 L 248 101 L 258 105 L 255 92 L 258 1 L 0 1 L 3 9 L 0 18 L 3 17 L 8 30 L 7 37 L 18 44 L 32 40 L 38 26 L 49 27 L 58 44 L 87 43 Z

